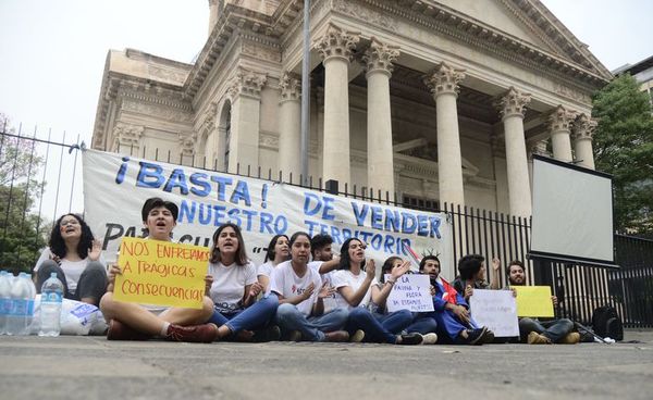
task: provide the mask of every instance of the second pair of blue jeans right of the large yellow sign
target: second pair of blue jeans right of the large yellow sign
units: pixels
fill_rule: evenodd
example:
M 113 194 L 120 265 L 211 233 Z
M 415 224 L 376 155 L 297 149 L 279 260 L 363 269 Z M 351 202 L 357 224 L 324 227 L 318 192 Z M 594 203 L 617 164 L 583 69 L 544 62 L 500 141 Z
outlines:
M 310 341 L 324 341 L 325 332 L 342 329 L 349 312 L 335 309 L 320 316 L 306 316 L 293 304 L 285 303 L 276 309 L 276 323 L 282 330 L 299 330 Z

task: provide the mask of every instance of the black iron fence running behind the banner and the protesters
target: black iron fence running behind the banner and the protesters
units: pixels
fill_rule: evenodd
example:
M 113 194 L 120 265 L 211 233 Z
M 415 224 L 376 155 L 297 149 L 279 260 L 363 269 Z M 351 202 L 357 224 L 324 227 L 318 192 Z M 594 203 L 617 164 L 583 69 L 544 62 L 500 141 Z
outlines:
M 57 142 L 0 127 L 0 268 L 28 271 L 49 236 L 51 222 L 64 212 L 83 209 L 78 172 L 83 143 Z M 220 172 L 215 160 L 171 157 L 169 151 L 121 148 L 130 155 L 150 154 L 156 161 Z M 454 260 L 477 253 L 486 260 L 498 258 L 506 265 L 520 260 L 527 266 L 529 284 L 550 285 L 559 299 L 557 314 L 581 323 L 591 322 L 600 305 L 612 305 L 627 327 L 653 327 L 653 240 L 616 235 L 617 270 L 532 261 L 527 258 L 530 220 L 502 213 L 439 204 L 436 201 L 408 201 L 397 193 L 381 192 L 356 185 L 321 178 L 284 175 L 260 167 L 236 166 L 236 174 L 328 191 L 360 200 L 422 211 L 444 212 L 453 223 Z M 77 184 L 76 184 L 77 183 Z M 490 264 L 490 263 L 488 263 Z M 490 271 L 488 271 L 490 276 Z M 500 286 L 507 284 L 502 267 Z

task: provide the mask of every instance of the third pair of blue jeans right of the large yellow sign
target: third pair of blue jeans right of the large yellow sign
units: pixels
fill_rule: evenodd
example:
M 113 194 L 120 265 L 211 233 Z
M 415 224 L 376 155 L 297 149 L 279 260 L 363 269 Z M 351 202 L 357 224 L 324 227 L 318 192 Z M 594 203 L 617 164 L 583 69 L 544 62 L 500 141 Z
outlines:
M 412 322 L 412 314 L 408 310 L 395 311 L 389 314 L 371 313 L 368 309 L 357 307 L 349 311 L 347 330 L 365 330 L 369 341 L 381 343 L 395 343 L 396 335 Z

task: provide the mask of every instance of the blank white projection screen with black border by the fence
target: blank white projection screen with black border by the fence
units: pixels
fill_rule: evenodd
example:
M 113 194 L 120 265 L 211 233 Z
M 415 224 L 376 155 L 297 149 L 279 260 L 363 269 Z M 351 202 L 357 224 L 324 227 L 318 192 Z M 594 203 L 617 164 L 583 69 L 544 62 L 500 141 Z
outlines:
M 612 177 L 533 155 L 530 257 L 615 267 Z

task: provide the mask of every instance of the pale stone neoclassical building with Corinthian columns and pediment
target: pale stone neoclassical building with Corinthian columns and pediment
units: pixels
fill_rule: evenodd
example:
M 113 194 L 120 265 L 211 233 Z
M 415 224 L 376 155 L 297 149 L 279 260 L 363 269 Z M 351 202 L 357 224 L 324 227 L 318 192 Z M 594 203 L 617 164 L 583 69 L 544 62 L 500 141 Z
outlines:
M 209 0 L 193 64 L 109 51 L 93 147 L 300 173 L 303 0 Z M 530 158 L 593 168 L 611 73 L 539 0 L 312 0 L 309 173 L 530 215 Z

